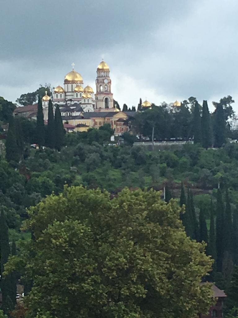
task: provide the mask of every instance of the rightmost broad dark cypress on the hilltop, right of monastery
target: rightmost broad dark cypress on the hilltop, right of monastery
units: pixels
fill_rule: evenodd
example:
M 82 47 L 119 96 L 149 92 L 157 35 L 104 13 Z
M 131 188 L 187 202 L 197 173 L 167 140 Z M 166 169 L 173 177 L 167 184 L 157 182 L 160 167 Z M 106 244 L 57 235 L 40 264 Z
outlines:
M 222 105 L 217 104 L 214 112 L 214 147 L 221 148 L 226 141 L 226 122 Z

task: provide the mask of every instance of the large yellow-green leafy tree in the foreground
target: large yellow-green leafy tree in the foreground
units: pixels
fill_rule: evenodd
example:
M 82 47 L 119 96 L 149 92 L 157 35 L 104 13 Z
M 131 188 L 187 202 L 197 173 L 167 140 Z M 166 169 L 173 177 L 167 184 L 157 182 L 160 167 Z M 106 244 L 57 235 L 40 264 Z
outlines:
M 33 279 L 29 317 L 206 312 L 211 290 L 201 278 L 211 260 L 203 244 L 186 236 L 179 213 L 175 200 L 166 204 L 153 190 L 124 189 L 111 199 L 83 187 L 65 188 L 32 207 L 27 228 L 34 240 L 8 264 L 10 270 L 19 260 Z

